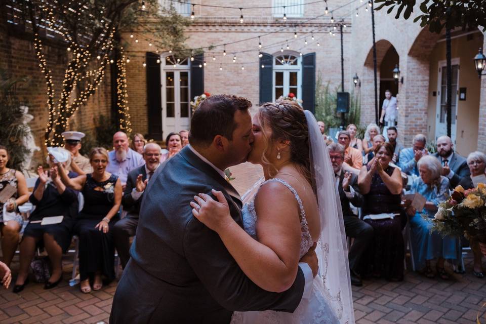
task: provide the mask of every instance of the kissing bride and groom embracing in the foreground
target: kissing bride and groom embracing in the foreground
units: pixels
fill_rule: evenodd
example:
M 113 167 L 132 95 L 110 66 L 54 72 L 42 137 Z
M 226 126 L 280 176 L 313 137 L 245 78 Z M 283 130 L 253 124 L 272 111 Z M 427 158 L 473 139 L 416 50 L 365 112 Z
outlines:
M 293 101 L 204 100 L 145 189 L 110 323 L 354 323 L 331 160 Z M 264 178 L 243 197 L 224 170 Z

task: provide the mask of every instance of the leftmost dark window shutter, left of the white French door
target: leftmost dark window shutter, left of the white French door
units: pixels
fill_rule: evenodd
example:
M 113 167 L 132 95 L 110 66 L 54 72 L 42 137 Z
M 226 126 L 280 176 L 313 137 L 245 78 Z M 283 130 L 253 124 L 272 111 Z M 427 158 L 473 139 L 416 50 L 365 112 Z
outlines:
M 147 115 L 148 133 L 154 140 L 163 140 L 162 133 L 162 97 L 160 83 L 160 56 L 146 53 L 145 74 L 147 79 Z

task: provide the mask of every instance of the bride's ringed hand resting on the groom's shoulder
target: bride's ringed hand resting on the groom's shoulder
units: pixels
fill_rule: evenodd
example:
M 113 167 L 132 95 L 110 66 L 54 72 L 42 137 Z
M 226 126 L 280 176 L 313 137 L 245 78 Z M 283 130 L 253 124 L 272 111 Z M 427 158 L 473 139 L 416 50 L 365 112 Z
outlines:
M 228 202 L 221 191 L 212 190 L 218 199 L 214 200 L 206 193 L 199 193 L 191 201 L 192 215 L 212 230 L 219 232 L 233 221 L 229 213 Z

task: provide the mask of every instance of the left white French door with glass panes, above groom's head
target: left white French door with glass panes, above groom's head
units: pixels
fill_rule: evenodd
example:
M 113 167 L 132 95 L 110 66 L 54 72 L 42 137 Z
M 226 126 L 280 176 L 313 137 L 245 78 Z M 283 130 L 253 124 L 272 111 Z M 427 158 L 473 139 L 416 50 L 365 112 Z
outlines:
M 164 136 L 189 129 L 189 71 L 162 72 L 162 116 Z

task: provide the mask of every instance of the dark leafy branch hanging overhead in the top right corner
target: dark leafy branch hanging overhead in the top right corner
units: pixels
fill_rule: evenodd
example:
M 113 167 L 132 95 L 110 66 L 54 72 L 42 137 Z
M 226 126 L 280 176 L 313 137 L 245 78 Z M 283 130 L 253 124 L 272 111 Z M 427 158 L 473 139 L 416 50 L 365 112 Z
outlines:
M 416 0 L 375 0 L 379 5 L 376 10 L 388 8 L 390 14 L 395 8 L 395 19 L 403 13 L 404 19 L 409 19 L 417 4 Z M 422 14 L 414 22 L 420 20 L 420 26 L 429 26 L 430 32 L 440 33 L 444 27 L 448 29 L 482 27 L 486 31 L 486 1 L 485 0 L 424 0 L 419 6 Z

